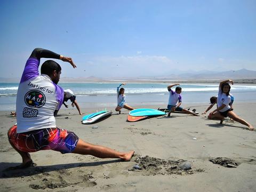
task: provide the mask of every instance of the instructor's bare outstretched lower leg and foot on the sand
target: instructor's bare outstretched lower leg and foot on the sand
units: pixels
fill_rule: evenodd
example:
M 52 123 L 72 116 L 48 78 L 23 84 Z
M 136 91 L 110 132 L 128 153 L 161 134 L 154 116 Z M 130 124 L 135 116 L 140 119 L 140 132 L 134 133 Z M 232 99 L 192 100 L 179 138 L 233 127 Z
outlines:
M 93 145 L 79 139 L 73 153 L 81 155 L 93 155 L 99 158 L 121 158 L 124 161 L 130 161 L 134 151 L 130 151 L 128 153 L 120 153 L 108 147 Z

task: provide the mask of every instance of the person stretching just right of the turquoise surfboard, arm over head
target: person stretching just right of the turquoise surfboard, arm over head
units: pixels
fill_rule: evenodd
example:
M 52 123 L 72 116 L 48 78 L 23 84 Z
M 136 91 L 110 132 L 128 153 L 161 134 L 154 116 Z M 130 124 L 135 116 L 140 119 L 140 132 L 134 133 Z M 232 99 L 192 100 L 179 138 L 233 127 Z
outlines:
M 180 85 L 180 84 L 173 84 L 173 85 L 169 85 L 167 86 L 167 90 L 169 91 L 170 93 L 170 96 L 169 96 L 169 102 L 168 102 L 168 106 L 167 106 L 167 109 L 169 109 L 169 113 L 167 115 L 167 117 L 170 117 L 171 115 L 171 112 L 174 112 L 174 111 L 182 111 L 183 113 L 187 113 L 187 114 L 192 114 L 192 115 L 195 115 L 195 116 L 199 116 L 187 109 L 183 109 L 182 107 L 180 107 L 181 105 L 181 87 L 180 86 L 177 86 L 175 88 L 175 91 L 173 91 L 171 89 L 171 87 L 175 86 L 175 85 Z M 178 105 L 177 102 L 179 101 Z

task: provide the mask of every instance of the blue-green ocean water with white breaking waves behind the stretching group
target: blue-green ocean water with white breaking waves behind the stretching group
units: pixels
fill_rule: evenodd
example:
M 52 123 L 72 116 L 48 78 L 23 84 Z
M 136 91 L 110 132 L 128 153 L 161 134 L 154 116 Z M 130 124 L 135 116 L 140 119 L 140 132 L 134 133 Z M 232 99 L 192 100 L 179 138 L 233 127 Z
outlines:
M 63 89 L 70 89 L 77 96 L 83 108 L 105 108 L 117 105 L 117 83 L 60 83 Z M 125 88 L 128 105 L 167 105 L 169 92 L 164 83 L 129 83 Z M 0 83 L 0 110 L 15 110 L 18 83 Z M 218 94 L 219 84 L 181 84 L 182 103 L 207 103 Z M 173 87 L 175 89 L 175 87 Z M 233 85 L 231 91 L 235 102 L 256 101 L 256 85 Z M 68 102 L 69 105 L 69 102 Z

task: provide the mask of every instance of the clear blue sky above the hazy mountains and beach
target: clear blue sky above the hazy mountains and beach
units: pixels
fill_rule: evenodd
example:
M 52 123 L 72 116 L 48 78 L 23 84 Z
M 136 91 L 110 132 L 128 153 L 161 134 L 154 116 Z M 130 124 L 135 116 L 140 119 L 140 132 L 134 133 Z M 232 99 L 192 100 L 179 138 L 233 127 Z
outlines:
M 10 0 L 0 23 L 0 77 L 20 77 L 35 47 L 72 57 L 68 77 L 256 70 L 256 1 Z

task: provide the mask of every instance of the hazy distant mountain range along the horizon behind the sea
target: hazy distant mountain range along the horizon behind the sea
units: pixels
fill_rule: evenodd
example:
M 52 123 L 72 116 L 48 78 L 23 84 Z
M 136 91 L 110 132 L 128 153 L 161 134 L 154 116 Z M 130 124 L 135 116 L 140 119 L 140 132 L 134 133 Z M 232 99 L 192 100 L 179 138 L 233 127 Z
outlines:
M 196 81 L 213 81 L 213 80 L 219 80 L 219 79 L 234 79 L 234 80 L 240 80 L 239 82 L 256 82 L 256 71 L 253 70 L 247 70 L 247 69 L 240 69 L 240 70 L 229 70 L 229 71 L 222 71 L 222 72 L 216 72 L 216 71 L 192 71 L 187 73 L 179 73 L 179 74 L 170 74 L 165 76 L 141 76 L 141 77 L 107 77 L 107 78 L 100 78 L 100 77 L 61 77 L 60 83 L 64 82 L 76 82 L 76 83 L 82 83 L 82 82 L 113 82 L 115 80 L 120 81 L 168 81 L 168 80 L 188 80 L 191 82 Z M 250 79 L 250 81 L 249 81 Z M 0 82 L 2 83 L 17 83 L 20 81 L 20 78 L 1 78 Z

